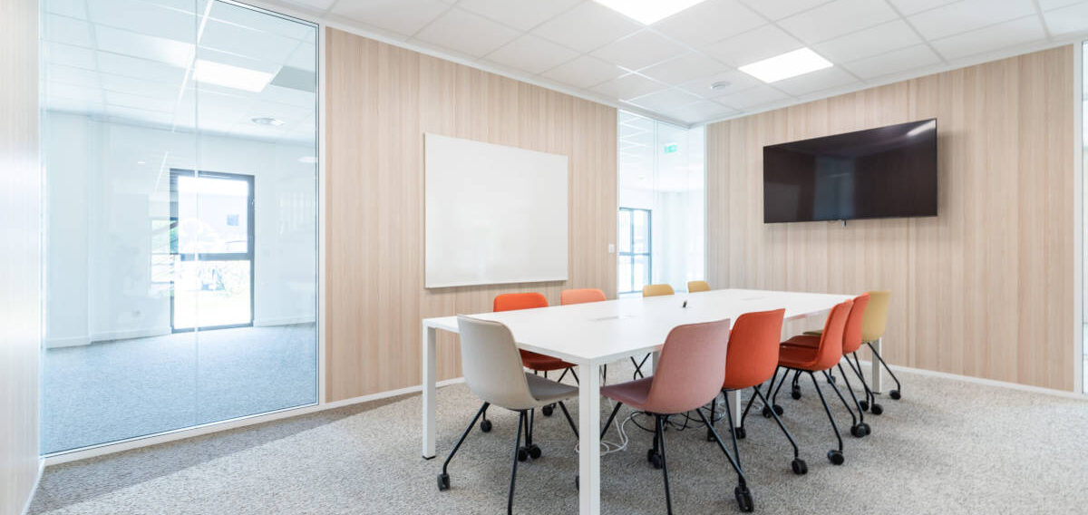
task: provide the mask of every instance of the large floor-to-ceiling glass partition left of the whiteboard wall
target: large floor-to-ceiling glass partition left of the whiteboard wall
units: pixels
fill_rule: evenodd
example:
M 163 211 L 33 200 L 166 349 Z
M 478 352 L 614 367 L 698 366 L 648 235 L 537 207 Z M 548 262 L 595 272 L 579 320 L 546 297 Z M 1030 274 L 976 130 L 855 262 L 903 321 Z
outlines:
M 318 401 L 318 28 L 42 0 L 41 452 Z

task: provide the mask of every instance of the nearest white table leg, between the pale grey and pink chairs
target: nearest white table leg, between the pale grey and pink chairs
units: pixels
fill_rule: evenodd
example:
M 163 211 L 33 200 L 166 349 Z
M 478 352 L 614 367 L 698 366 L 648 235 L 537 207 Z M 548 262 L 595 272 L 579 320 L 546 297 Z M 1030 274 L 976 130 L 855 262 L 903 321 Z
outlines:
M 601 513 L 601 373 L 588 366 L 578 388 L 578 513 Z

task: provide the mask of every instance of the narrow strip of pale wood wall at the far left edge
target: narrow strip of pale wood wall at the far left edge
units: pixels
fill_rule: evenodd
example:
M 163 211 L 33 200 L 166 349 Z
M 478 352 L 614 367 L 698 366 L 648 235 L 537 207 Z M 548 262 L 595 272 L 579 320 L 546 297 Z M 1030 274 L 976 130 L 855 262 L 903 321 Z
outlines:
M 38 2 L 0 2 L 0 513 L 38 477 L 41 172 Z

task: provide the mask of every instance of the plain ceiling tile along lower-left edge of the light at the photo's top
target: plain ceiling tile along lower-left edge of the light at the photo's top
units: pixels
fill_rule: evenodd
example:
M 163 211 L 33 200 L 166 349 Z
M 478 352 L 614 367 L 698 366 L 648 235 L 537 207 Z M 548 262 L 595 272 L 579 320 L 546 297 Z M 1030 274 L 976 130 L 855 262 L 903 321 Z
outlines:
M 582 52 L 596 50 L 642 25 L 596 2 L 582 2 L 533 29 L 533 34 Z

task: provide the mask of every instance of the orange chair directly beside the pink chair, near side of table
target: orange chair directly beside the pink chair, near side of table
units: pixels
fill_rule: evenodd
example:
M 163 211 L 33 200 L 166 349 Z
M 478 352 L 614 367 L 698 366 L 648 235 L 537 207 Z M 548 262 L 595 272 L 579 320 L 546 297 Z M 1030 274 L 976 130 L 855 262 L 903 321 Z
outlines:
M 726 393 L 726 413 L 729 419 L 729 430 L 733 439 L 733 455 L 737 456 L 737 463 L 741 461 L 737 440 L 744 438 L 744 428 L 734 427 L 733 425 L 733 412 L 729 403 L 729 392 L 751 388 L 753 400 L 759 397 L 764 404 L 768 404 L 767 398 L 759 391 L 759 387 L 775 376 L 775 372 L 778 370 L 779 336 L 782 335 L 782 320 L 784 316 L 786 309 L 746 312 L 737 318 L 732 332 L 729 334 L 726 379 L 721 384 L 721 391 Z M 747 408 L 751 407 L 752 403 L 749 402 Z M 713 414 L 716 410 L 717 397 L 710 402 L 710 413 Z M 747 409 L 745 409 L 746 412 Z M 793 440 L 790 430 L 786 429 L 786 425 L 778 418 L 778 414 L 771 410 L 771 415 L 774 415 L 775 421 L 778 422 L 778 428 L 782 430 L 787 440 L 790 441 L 790 445 L 793 445 L 793 462 L 790 464 L 793 473 L 796 475 L 807 473 L 808 466 L 804 459 L 801 459 L 798 442 Z M 710 424 L 714 424 L 713 418 Z M 714 434 L 709 430 L 706 431 L 706 440 L 714 441 Z

